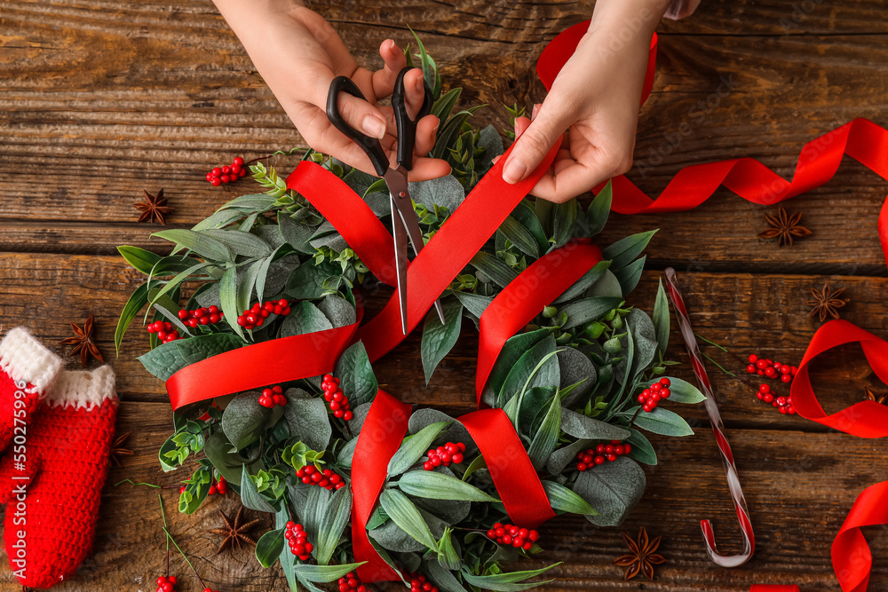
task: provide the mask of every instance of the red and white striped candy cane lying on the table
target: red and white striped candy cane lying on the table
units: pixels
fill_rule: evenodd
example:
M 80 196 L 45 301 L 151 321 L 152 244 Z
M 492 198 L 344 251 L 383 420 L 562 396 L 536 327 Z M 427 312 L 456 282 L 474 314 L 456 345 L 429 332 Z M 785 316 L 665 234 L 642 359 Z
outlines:
M 681 292 L 678 291 L 675 270 L 671 267 L 666 270 L 666 288 L 669 292 L 672 305 L 675 307 L 678 328 L 681 329 L 681 336 L 684 338 L 687 352 L 691 356 L 691 366 L 694 367 L 694 375 L 697 376 L 701 391 L 706 395 L 706 413 L 710 416 L 710 423 L 712 424 L 712 431 L 716 436 L 718 451 L 721 453 L 722 463 L 725 465 L 727 485 L 731 490 L 733 506 L 734 509 L 737 510 L 737 517 L 740 520 L 740 529 L 744 539 L 744 549 L 740 555 L 725 556 L 718 553 L 718 549 L 716 549 L 715 534 L 712 533 L 712 525 L 709 520 L 700 521 L 700 527 L 703 531 L 703 541 L 706 542 L 706 552 L 710 554 L 712 561 L 722 567 L 737 567 L 749 561 L 749 557 L 752 556 L 752 553 L 756 548 L 755 534 L 752 533 L 752 523 L 749 522 L 749 509 L 747 509 L 746 500 L 743 498 L 740 478 L 737 476 L 737 467 L 733 463 L 731 445 L 728 444 L 727 438 L 725 437 L 725 424 L 722 423 L 721 414 L 718 413 L 716 400 L 712 396 L 710 378 L 706 375 L 706 368 L 703 367 L 700 349 L 697 347 L 697 340 L 694 338 L 694 329 L 691 328 L 691 320 L 687 317 L 685 301 L 681 297 Z

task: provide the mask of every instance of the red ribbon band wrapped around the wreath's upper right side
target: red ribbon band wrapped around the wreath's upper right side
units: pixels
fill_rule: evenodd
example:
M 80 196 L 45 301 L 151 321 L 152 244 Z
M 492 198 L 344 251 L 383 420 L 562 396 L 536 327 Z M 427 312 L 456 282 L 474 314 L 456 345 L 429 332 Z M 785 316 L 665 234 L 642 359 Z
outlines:
M 478 371 L 475 375 L 478 407 L 481 407 L 484 385 L 506 340 L 599 261 L 601 251 L 591 241 L 570 241 L 530 264 L 488 304 L 479 320 Z

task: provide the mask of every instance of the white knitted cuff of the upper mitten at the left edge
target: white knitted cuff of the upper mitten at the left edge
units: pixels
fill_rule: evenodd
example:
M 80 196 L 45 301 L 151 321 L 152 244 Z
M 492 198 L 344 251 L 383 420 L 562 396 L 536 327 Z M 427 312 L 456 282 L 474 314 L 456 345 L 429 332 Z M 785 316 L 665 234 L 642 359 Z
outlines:
M 59 356 L 46 349 L 28 329 L 17 327 L 0 342 L 0 369 L 13 381 L 25 381 L 37 392 L 49 390 L 64 366 Z

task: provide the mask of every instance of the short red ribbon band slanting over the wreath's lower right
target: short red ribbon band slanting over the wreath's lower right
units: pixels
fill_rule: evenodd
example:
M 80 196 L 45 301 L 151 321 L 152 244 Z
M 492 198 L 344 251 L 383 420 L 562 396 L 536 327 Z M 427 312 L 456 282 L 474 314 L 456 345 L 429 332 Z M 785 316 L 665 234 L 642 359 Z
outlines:
M 513 524 L 535 528 L 555 517 L 524 444 L 502 409 L 473 411 L 459 422 L 478 445 Z

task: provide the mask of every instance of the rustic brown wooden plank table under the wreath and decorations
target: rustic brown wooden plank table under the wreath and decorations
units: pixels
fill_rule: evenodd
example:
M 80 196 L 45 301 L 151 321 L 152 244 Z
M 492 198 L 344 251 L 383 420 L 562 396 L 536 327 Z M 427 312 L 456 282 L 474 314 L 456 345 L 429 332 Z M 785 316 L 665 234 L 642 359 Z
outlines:
M 446 83 L 464 86 L 467 101 L 493 106 L 476 121 L 498 127 L 507 122 L 499 106 L 529 107 L 543 98 L 533 66 L 544 43 L 591 13 L 587 2 L 313 4 L 367 65 L 377 64 L 375 49 L 387 36 L 407 43 L 408 26 L 415 28 Z M 649 193 L 686 165 L 746 155 L 789 178 L 805 141 L 858 116 L 888 123 L 882 2 L 707 0 L 693 18 L 664 22 L 660 32 L 654 93 L 638 124 L 638 169 L 630 173 Z M 305 145 L 206 0 L 4 0 L 0 80 L 0 323 L 7 330 L 25 325 L 52 344 L 68 335 L 68 321 L 95 313 L 123 400 L 117 429 L 132 432 L 135 451 L 111 471 L 94 555 L 56 589 L 153 591 L 164 561 L 156 490 L 112 484 L 131 478 L 174 485 L 182 476 L 163 474 L 157 463 L 171 414 L 163 384 L 135 359 L 144 333 L 131 328 L 114 359 L 115 320 L 138 279 L 115 246 L 163 248 L 149 237 L 155 226 L 135 223 L 132 204 L 143 189 L 163 187 L 177 208 L 171 225 L 192 225 L 245 193 L 244 182 L 211 187 L 203 176 L 212 166 Z M 293 162 L 275 164 L 288 170 Z M 888 280 L 876 240 L 886 191 L 876 175 L 845 159 L 832 182 L 789 203 L 813 231 L 792 248 L 758 239 L 765 210 L 725 190 L 691 212 L 614 215 L 603 242 L 659 227 L 634 304 L 650 310 L 659 270 L 673 265 L 702 335 L 740 355 L 797 362 L 820 325 L 807 315 L 809 288 L 824 281 L 847 287 L 845 319 L 888 335 Z M 672 356 L 686 362 L 673 337 Z M 429 387 L 418 344 L 408 339 L 377 365 L 381 382 L 404 400 L 469 410 L 474 330 L 466 328 Z M 756 556 L 727 570 L 703 550 L 701 518 L 715 522 L 729 551 L 739 549 L 739 531 L 705 415 L 692 410 L 696 435 L 661 443 L 661 464 L 647 471 L 646 497 L 622 529 L 564 518 L 545 526 L 551 550 L 532 563 L 564 562 L 545 589 L 715 592 L 748 590 L 753 582 L 795 583 L 804 592 L 838 588 L 829 547 L 856 495 L 884 478 L 884 443 L 777 414 L 748 386 L 712 374 L 756 529 Z M 875 384 L 853 349 L 817 374 L 831 386 L 822 394 L 831 411 Z M 174 491 L 164 493 L 170 508 Z M 206 530 L 218 525 L 217 509 L 237 504 L 229 495 L 193 517 L 170 511 L 171 531 L 214 588 L 284 589 L 281 573 L 261 569 L 250 552 L 214 556 L 218 538 Z M 622 554 L 620 531 L 643 525 L 663 535 L 668 563 L 653 583 L 623 582 L 611 564 Z M 885 589 L 888 534 L 873 529 L 868 538 L 876 556 L 870 589 Z M 181 558 L 172 564 L 179 589 L 197 590 Z M 0 582 L 3 590 L 19 589 L 7 570 Z

